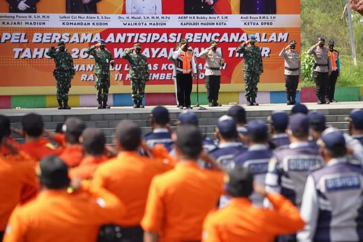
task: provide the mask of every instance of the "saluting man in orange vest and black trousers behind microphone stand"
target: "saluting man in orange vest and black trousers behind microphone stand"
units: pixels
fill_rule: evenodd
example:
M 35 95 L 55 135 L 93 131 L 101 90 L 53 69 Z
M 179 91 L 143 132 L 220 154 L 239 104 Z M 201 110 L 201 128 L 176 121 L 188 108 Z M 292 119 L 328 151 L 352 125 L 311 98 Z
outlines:
M 179 109 L 192 109 L 190 96 L 193 88 L 193 76 L 197 78 L 197 65 L 193 50 L 188 48 L 188 40 L 182 39 L 180 47 L 173 53 L 176 63 L 176 86 Z

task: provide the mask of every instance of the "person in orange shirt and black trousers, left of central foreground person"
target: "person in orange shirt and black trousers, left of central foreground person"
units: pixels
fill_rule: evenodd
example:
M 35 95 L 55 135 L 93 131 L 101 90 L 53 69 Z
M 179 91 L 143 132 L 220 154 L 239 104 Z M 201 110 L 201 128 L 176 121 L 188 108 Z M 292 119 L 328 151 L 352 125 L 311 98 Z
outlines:
M 115 132 L 117 157 L 105 162 L 97 168 L 93 185 L 95 189 L 105 188 L 114 193 L 127 206 L 125 217 L 119 217 L 116 225 L 125 241 L 143 241 L 143 230 L 140 221 L 145 211 L 147 194 L 152 178 L 173 168 L 168 152 L 157 144 L 151 154 L 153 158 L 138 153 L 141 146 L 141 129 L 132 121 L 122 121 Z M 142 148 L 145 150 L 146 145 Z M 164 152 L 157 152 L 161 147 Z

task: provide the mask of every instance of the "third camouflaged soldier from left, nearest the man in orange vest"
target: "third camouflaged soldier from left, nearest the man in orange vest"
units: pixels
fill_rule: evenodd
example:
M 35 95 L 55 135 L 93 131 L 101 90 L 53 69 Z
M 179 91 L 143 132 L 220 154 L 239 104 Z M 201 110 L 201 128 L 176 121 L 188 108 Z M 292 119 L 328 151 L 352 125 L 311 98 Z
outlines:
M 133 50 L 135 50 L 135 53 L 132 53 Z M 149 67 L 146 56 L 141 54 L 141 45 L 135 44 L 133 48 L 126 49 L 122 57 L 130 63 L 129 75 L 132 84 L 134 108 L 144 108 L 142 102 L 145 96 L 145 82 L 149 80 Z

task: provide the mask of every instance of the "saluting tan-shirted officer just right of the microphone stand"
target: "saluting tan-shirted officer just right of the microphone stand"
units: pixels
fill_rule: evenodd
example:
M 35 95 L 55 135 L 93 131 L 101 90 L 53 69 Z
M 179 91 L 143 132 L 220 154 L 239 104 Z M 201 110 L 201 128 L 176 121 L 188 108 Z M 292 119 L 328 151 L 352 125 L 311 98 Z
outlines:
M 200 52 L 199 57 L 206 59 L 206 88 L 209 101 L 209 107 L 220 107 L 218 93 L 220 88 L 220 68 L 225 61 L 222 54 L 217 51 L 217 42 L 211 41 L 209 48 Z

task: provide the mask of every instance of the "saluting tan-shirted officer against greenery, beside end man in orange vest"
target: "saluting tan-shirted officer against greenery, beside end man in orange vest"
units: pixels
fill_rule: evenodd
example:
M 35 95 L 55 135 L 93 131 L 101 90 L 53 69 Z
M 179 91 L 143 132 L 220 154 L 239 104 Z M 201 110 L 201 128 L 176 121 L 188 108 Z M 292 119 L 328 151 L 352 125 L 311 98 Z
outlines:
M 325 39 L 319 37 L 318 43 L 312 46 L 308 51 L 308 55 L 314 55 L 314 81 L 316 84 L 316 96 L 318 104 L 329 104 L 330 100 L 327 93 L 329 76 L 332 71 L 332 65 L 328 48 L 324 47 Z

